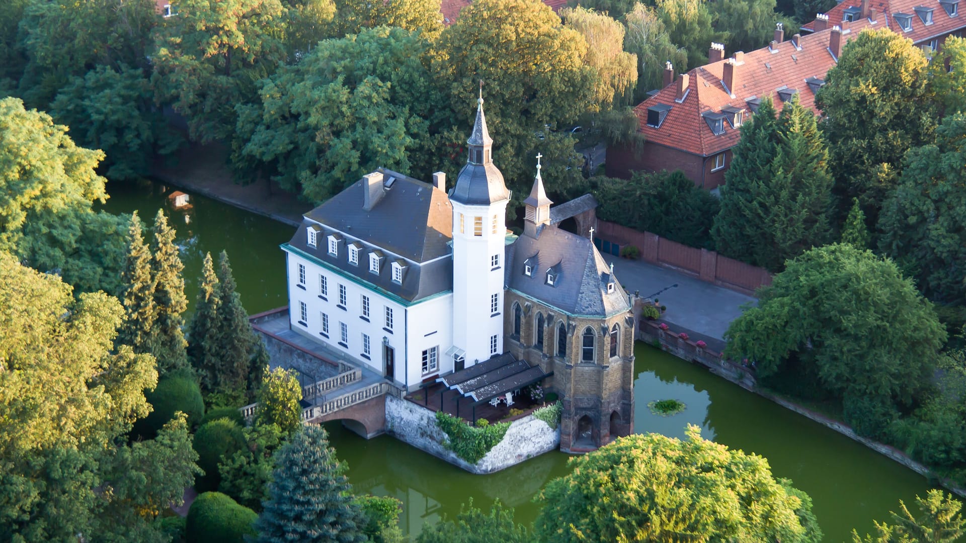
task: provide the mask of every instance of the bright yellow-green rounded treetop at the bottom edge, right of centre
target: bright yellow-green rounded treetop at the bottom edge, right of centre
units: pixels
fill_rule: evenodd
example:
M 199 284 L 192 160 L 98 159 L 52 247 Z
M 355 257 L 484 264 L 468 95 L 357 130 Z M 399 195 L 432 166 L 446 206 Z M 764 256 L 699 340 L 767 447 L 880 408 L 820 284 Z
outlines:
M 768 461 L 701 439 L 634 435 L 570 461 L 537 495 L 541 541 L 808 541 L 794 493 Z

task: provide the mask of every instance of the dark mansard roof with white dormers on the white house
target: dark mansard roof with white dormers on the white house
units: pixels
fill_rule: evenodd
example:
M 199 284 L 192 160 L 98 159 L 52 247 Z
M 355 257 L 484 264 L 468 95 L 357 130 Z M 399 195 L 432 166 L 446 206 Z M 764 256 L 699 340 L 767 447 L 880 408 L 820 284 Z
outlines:
M 380 169 L 383 197 L 371 211 L 362 209 L 362 181 L 305 214 L 288 245 L 329 267 L 369 283 L 403 300 L 421 300 L 453 288 L 449 256 L 453 210 L 446 194 L 426 183 Z M 389 180 L 392 180 L 389 183 Z M 322 224 L 316 247 L 308 245 L 307 228 Z M 339 253 L 328 254 L 328 235 L 339 232 Z M 349 263 L 350 243 L 361 246 L 358 265 Z M 383 256 L 380 273 L 369 272 L 369 255 Z M 433 262 L 428 262 L 433 261 Z M 392 280 L 392 263 L 405 265 L 402 284 Z

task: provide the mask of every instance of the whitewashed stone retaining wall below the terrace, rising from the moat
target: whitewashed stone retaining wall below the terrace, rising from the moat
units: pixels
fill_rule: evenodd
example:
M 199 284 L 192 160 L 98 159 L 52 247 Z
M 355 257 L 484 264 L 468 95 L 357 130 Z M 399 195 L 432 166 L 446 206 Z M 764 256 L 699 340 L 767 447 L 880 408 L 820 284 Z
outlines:
M 456 456 L 443 443 L 448 439 L 436 424 L 436 413 L 410 401 L 385 396 L 385 431 L 396 439 L 428 452 L 467 472 L 499 472 L 560 446 L 560 431 L 529 414 L 515 420 L 503 440 L 475 465 Z

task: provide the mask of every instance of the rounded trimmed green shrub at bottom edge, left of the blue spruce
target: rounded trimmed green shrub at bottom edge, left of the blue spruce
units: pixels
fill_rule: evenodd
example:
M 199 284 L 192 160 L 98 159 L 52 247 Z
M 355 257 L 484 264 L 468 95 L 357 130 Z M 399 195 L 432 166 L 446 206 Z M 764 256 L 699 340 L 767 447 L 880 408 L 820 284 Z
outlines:
M 257 535 L 252 524 L 258 515 L 220 492 L 199 496 L 187 511 L 187 543 L 241 543 L 245 535 Z

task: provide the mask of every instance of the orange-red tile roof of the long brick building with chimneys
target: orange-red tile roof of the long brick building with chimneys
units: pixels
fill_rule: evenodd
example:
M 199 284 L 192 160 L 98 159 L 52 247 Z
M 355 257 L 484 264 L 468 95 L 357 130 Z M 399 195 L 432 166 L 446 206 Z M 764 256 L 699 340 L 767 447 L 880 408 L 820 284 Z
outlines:
M 842 32 L 842 43 L 858 35 L 863 27 L 881 27 L 879 24 L 852 23 Z M 738 84 L 725 92 L 723 83 L 725 59 L 688 71 L 688 92 L 678 102 L 677 80 L 644 100 L 635 107 L 639 130 L 648 142 L 659 143 L 703 157 L 717 155 L 738 144 L 740 131 L 724 122 L 724 133 L 715 134 L 702 117 L 703 113 L 722 113 L 722 108 L 732 106 L 745 111 L 748 119 L 752 112 L 748 100 L 769 97 L 775 108 L 781 111 L 783 101 L 779 90 L 797 90 L 799 102 L 814 110 L 815 95 L 806 79 L 824 79 L 836 60 L 829 50 L 832 30 L 824 30 L 801 37 L 800 47 L 791 40 L 777 43 L 774 51 L 769 47 L 744 54 L 744 63 L 734 65 Z M 664 104 L 670 106 L 660 128 L 647 125 L 648 107 Z M 817 111 L 816 111 L 817 113 Z

